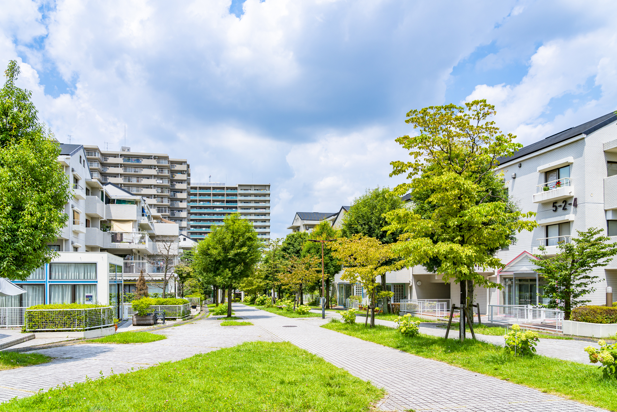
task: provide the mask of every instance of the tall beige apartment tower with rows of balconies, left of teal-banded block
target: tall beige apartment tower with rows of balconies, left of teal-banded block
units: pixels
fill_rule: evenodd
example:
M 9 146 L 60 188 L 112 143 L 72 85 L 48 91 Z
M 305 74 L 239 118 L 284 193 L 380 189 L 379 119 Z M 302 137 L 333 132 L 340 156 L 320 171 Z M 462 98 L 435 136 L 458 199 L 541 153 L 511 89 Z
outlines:
M 133 153 L 124 146 L 121 151 L 84 148 L 93 180 L 114 183 L 146 198 L 153 211 L 179 225 L 179 234 L 188 233 L 186 192 L 191 168 L 186 159 L 170 159 L 164 153 Z

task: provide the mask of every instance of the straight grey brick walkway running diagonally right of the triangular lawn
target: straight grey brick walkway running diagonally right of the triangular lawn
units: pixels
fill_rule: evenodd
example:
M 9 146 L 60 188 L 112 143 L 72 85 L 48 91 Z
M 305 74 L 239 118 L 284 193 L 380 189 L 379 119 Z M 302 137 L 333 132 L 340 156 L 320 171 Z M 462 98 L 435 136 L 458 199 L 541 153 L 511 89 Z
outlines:
M 249 306 L 234 305 L 237 316 L 371 380 L 389 393 L 379 408 L 431 412 L 587 412 L 592 406 L 539 390 L 476 374 L 319 327 L 323 319 L 287 318 Z M 287 327 L 286 327 L 287 326 Z M 291 326 L 291 327 L 289 327 Z M 295 327 L 294 327 L 295 326 Z M 560 341 L 571 342 L 571 341 Z M 460 389 L 459 389 L 460 388 Z

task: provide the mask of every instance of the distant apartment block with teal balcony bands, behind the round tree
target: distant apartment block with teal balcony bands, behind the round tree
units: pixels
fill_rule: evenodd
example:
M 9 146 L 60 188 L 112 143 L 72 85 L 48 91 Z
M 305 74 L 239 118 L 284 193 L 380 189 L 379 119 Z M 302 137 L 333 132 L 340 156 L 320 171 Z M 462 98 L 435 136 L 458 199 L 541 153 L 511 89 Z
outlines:
M 218 182 L 192 183 L 189 193 L 191 238 L 201 240 L 223 218 L 239 212 L 257 230 L 259 238 L 270 239 L 270 185 L 225 185 Z

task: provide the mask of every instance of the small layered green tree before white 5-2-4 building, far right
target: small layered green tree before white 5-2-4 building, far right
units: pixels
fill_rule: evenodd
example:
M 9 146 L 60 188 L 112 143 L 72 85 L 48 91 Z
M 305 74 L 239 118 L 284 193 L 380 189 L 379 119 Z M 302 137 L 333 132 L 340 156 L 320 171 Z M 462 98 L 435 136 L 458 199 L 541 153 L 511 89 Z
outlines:
M 599 235 L 603 229 L 590 227 L 585 232 L 577 232 L 578 237 L 557 245 L 555 256 L 546 256 L 544 246 L 539 248 L 542 253 L 534 255 L 539 259 L 536 272 L 546 280 L 541 296 L 549 299 L 549 303 L 543 306 L 561 309 L 566 321 L 572 309 L 590 302 L 581 297 L 595 291 L 591 286 L 598 279 L 592 274 L 594 268 L 607 266 L 617 254 L 617 243 L 608 243 L 609 237 Z

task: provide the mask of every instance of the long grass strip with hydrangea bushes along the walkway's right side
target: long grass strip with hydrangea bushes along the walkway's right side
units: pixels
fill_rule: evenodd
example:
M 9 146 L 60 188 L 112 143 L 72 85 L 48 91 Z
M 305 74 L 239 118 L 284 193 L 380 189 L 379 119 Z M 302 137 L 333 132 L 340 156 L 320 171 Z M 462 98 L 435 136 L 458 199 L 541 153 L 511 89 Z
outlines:
M 387 347 L 436 359 L 470 371 L 509 379 L 542 392 L 562 395 L 573 400 L 617 410 L 617 379 L 604 379 L 597 366 L 563 361 L 546 356 L 515 358 L 491 343 L 466 339 L 460 343 L 428 335 L 404 337 L 398 330 L 385 326 L 370 329 L 355 324 L 328 323 L 321 327 L 379 343 Z

